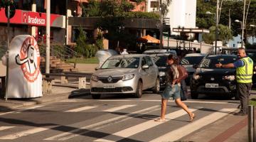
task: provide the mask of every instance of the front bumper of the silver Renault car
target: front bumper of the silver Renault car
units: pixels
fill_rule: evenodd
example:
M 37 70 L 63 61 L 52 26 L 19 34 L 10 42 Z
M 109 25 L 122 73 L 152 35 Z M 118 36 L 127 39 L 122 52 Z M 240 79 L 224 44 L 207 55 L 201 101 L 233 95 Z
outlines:
M 91 94 L 132 94 L 137 91 L 137 82 L 132 80 L 119 80 L 116 83 L 103 83 L 101 81 L 90 81 Z

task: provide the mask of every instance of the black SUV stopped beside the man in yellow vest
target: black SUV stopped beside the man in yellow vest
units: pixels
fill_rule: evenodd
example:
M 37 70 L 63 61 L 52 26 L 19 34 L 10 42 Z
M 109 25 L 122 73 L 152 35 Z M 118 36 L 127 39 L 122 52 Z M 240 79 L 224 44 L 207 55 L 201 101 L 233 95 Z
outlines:
M 191 98 L 198 99 L 198 94 L 228 94 L 238 99 L 236 93 L 235 68 L 217 68 L 215 64 L 235 62 L 237 55 L 207 55 L 195 68 L 191 78 Z

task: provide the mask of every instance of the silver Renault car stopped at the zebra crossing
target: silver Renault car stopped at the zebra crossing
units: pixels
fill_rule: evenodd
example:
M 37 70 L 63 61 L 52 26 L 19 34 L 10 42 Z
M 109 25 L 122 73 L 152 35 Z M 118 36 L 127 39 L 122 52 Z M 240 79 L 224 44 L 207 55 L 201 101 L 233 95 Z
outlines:
M 114 55 L 108 58 L 90 80 L 93 99 L 101 94 L 134 94 L 142 97 L 142 90 L 159 93 L 159 71 L 149 55 Z

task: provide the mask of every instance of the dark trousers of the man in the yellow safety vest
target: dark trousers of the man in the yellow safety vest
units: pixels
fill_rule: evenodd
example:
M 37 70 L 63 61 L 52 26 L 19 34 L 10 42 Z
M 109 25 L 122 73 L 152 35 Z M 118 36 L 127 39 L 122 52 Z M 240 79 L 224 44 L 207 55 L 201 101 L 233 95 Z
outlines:
M 251 89 L 252 83 L 238 83 L 238 96 L 241 103 L 241 111 L 244 114 L 247 114 Z

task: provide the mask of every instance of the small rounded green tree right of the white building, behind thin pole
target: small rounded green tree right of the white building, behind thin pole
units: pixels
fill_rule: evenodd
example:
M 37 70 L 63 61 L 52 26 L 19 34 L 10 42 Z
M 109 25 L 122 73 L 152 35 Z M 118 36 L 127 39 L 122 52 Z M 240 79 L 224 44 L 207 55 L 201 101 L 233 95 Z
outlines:
M 228 40 L 233 39 L 232 31 L 228 28 L 228 26 L 220 24 L 218 28 L 218 40 L 223 41 L 223 43 L 228 43 Z M 206 43 L 212 44 L 213 41 L 215 41 L 215 26 L 211 26 L 209 29 L 210 33 L 203 34 L 203 40 Z

